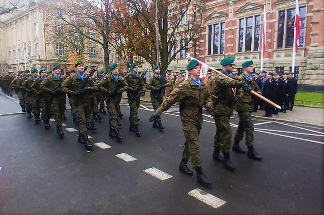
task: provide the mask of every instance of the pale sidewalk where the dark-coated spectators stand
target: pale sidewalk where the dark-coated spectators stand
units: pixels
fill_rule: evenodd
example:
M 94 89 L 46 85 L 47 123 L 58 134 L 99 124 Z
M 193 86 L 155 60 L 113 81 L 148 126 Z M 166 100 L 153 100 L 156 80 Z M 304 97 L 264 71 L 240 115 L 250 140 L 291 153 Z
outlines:
M 122 95 L 123 98 L 127 98 L 126 93 Z M 165 96 L 164 96 L 165 98 Z M 142 101 L 150 102 L 150 92 L 146 92 L 144 97 L 141 97 Z M 237 112 L 234 111 L 237 115 Z M 287 113 L 279 113 L 278 116 L 272 115 L 271 118 L 263 117 L 264 111 L 258 110 L 258 112 L 252 112 L 252 116 L 267 121 L 282 121 L 287 123 L 304 123 L 309 125 L 316 125 L 324 127 L 324 108 L 316 107 L 298 107 L 294 106 L 293 111 L 287 110 Z

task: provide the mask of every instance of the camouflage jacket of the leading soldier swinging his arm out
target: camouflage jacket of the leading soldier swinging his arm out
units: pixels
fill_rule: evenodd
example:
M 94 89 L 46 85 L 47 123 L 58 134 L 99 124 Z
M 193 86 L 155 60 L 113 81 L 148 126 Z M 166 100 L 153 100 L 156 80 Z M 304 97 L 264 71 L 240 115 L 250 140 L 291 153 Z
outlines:
M 161 115 L 164 110 L 169 109 L 176 102 L 181 102 L 180 118 L 182 128 L 185 130 L 188 130 L 190 125 L 202 125 L 203 105 L 212 106 L 211 94 L 205 83 L 202 82 L 202 86 L 199 87 L 190 77 L 170 93 L 156 113 Z

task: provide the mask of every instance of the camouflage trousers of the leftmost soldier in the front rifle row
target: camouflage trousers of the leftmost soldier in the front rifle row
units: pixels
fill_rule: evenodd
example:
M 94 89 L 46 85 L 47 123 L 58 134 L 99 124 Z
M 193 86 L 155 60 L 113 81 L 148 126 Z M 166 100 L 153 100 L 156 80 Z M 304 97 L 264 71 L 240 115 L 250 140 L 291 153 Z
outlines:
M 89 118 L 91 107 L 89 103 L 73 103 L 74 104 L 74 115 L 79 123 L 79 131 L 81 134 L 85 134 L 87 132 L 87 119 Z

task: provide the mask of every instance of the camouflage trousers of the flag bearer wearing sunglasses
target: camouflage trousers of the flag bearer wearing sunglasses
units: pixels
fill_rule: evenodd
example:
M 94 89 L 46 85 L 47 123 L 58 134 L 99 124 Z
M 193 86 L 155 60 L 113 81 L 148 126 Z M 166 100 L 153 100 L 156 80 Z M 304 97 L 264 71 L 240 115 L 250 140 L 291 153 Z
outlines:
M 232 129 L 229 125 L 230 116 L 214 115 L 216 124 L 216 135 L 214 137 L 214 147 L 222 149 L 223 153 L 231 152 Z

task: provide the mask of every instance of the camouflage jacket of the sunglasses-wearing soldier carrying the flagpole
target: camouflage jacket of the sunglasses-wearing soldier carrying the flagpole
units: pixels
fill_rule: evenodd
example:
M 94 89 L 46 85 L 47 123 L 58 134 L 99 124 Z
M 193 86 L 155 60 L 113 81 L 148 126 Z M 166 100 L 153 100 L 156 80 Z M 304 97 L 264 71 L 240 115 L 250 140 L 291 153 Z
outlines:
M 222 71 L 223 72 L 223 71 Z M 243 81 L 231 80 L 226 72 L 217 74 L 215 77 L 215 87 L 213 95 L 218 97 L 216 107 L 211 109 L 211 115 L 226 115 L 230 116 L 233 113 L 234 97 L 236 87 L 240 87 Z M 226 77 L 227 76 L 227 77 Z M 236 79 L 236 77 L 232 77 Z

